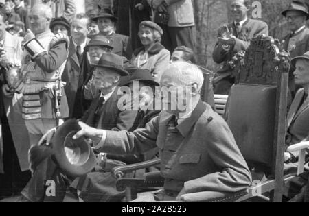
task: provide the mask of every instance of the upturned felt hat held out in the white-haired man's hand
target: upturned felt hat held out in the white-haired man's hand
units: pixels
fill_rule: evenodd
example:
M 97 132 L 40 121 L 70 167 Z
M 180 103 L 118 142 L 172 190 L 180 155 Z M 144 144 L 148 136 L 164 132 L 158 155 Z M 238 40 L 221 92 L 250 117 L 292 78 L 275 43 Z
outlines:
M 70 119 L 58 128 L 52 139 L 54 157 L 60 169 L 71 177 L 86 175 L 96 164 L 95 154 L 87 139 L 81 137 L 73 140 L 80 130 L 78 121 Z

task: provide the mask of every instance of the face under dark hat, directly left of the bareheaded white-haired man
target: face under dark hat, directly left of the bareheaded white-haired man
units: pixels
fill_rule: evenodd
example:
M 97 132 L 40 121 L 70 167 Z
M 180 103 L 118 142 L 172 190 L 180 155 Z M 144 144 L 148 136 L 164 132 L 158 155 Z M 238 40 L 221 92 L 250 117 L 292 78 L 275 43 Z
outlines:
M 139 101 L 139 108 L 145 108 L 149 106 L 154 99 L 154 91 L 152 88 L 143 82 L 138 82 L 138 85 L 134 85 L 133 82 L 129 84 L 131 95 L 133 95 L 133 101 Z M 138 95 L 134 93 L 138 92 Z

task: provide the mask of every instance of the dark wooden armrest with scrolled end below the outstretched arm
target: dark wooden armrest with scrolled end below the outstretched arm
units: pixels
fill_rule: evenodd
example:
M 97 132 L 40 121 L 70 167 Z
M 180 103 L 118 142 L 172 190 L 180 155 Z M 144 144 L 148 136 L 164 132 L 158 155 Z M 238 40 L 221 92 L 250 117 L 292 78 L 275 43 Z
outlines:
M 134 165 L 126 165 L 121 167 L 115 167 L 112 169 L 111 173 L 115 178 L 123 178 L 124 174 L 130 173 L 132 171 L 146 169 L 148 167 L 153 167 L 155 165 L 159 165 L 161 163 L 160 159 L 148 160 L 141 163 L 135 163 Z

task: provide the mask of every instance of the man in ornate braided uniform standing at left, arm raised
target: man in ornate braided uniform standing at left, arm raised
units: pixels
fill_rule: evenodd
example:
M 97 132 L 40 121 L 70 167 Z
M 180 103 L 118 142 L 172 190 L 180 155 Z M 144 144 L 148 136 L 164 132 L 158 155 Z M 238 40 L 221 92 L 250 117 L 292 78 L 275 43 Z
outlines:
M 29 18 L 31 30 L 28 29 L 24 39 L 23 82 L 16 91 L 23 94 L 22 112 L 30 144 L 37 145 L 43 134 L 69 115 L 60 82 L 67 60 L 69 38 L 65 34 L 55 36 L 50 31 L 52 10 L 47 5 L 34 5 Z M 61 91 L 62 97 L 57 99 L 56 95 Z M 60 106 L 56 107 L 57 104 Z

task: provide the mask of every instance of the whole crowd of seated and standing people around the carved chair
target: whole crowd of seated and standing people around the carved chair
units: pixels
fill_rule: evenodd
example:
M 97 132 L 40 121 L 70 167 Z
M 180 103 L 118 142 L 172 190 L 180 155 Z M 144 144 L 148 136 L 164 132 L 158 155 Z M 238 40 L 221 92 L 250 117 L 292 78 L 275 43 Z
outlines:
M 218 29 L 213 54 L 222 67 L 203 98 L 205 69 L 195 64 L 191 0 L 114 0 L 113 8 L 101 5 L 96 14 L 76 14 L 67 10 L 74 1 L 60 2 L 65 12 L 52 10 L 49 1 L 29 12 L 23 1 L 2 5 L 0 200 L 18 195 L 20 202 L 122 202 L 125 194 L 115 189 L 111 167 L 158 157 L 161 164 L 153 169 L 161 172 L 164 187 L 136 201 L 192 201 L 190 195 L 202 191 L 224 196 L 251 186 L 251 169 L 214 109 L 214 93 L 228 95 L 235 83 L 233 56 L 255 36 L 268 36 L 267 23 L 247 16 L 249 0 L 231 1 L 233 21 Z M 308 7 L 291 1 L 282 16 L 290 34 L 280 49 L 293 58 L 282 143 L 287 171 L 298 158 L 288 146 L 309 136 Z M 157 97 L 165 88 L 190 97 Z M 185 109 L 174 108 L 180 102 Z M 97 160 L 95 169 L 78 178 L 55 159 L 63 141 L 59 130 L 70 128 L 73 141 L 88 139 Z M 309 201 L 308 175 L 302 178 L 298 189 L 284 194 L 286 200 Z M 52 197 L 45 193 L 47 180 L 56 182 Z

